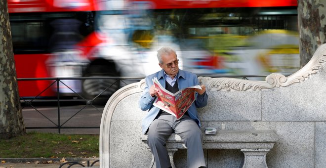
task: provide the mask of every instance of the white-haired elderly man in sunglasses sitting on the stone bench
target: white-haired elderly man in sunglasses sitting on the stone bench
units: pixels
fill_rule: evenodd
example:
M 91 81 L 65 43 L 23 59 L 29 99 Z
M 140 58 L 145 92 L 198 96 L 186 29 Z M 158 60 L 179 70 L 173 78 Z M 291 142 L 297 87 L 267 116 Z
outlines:
M 203 168 L 205 167 L 203 135 L 196 108 L 207 104 L 206 87 L 201 85 L 202 89 L 195 90 L 197 91 L 195 102 L 179 120 L 155 107 L 153 103 L 159 91 L 152 82 L 155 77 L 165 89 L 172 93 L 185 87 L 199 85 L 195 74 L 179 69 L 179 60 L 172 48 L 162 47 L 158 50 L 157 57 L 162 70 L 146 77 L 146 87 L 138 102 L 143 111 L 148 110 L 142 121 L 142 133 L 148 134 L 147 143 L 154 155 L 156 168 L 171 167 L 165 145 L 166 139 L 172 132 L 178 134 L 187 147 L 188 168 Z

